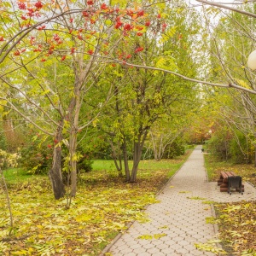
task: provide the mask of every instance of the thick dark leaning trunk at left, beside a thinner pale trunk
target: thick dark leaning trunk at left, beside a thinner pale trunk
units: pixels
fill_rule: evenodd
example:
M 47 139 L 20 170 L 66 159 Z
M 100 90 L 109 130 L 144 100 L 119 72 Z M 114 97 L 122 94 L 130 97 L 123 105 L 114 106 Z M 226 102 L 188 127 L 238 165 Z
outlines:
M 61 124 L 58 128 L 57 134 L 55 136 L 55 144 L 61 142 L 62 135 L 61 135 Z M 49 180 L 51 183 L 51 187 L 53 193 L 55 195 L 55 199 L 60 199 L 65 195 L 65 186 L 62 181 L 62 174 L 61 174 L 61 146 L 57 145 L 54 147 L 53 152 L 53 163 L 52 167 L 49 170 Z

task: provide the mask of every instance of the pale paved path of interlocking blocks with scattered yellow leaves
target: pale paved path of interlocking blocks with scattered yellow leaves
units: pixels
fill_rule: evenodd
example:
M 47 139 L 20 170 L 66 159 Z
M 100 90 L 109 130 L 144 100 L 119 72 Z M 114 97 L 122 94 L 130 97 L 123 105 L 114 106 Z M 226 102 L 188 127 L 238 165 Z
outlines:
M 215 255 L 201 252 L 195 243 L 213 239 L 216 225 L 207 224 L 213 208 L 202 201 L 231 202 L 255 200 L 256 189 L 245 184 L 245 193 L 219 192 L 217 183 L 208 183 L 201 146 L 197 146 L 182 168 L 157 196 L 160 203 L 146 209 L 148 223 L 135 222 L 108 246 L 113 256 Z M 152 239 L 138 238 L 152 237 Z

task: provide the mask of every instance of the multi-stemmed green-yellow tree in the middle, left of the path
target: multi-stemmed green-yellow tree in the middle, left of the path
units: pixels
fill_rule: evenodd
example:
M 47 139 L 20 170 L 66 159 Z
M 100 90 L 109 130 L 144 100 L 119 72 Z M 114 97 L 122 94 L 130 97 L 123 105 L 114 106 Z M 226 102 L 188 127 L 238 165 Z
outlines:
M 140 38 L 127 40 L 123 48 L 119 48 L 118 57 L 125 57 L 127 61 L 133 63 L 134 68 L 127 67 L 125 61 L 121 66 L 117 66 L 113 73 L 108 73 L 108 79 L 116 82 L 113 82 L 113 103 L 106 108 L 108 116 L 102 121 L 102 129 L 108 131 L 112 148 L 115 141 L 117 151 L 120 152 L 122 149 L 125 177 L 130 182 L 136 181 L 138 163 L 151 126 L 163 114 L 172 112 L 172 105 L 185 110 L 184 106 L 196 93 L 196 90 L 191 90 L 189 83 L 169 77 L 166 73 L 137 68 L 137 65 L 145 65 L 165 70 L 175 69 L 190 74 L 193 70 L 195 72 L 195 67 L 189 69 L 183 67 L 184 58 L 193 66 L 192 49 L 189 49 L 192 40 L 188 39 L 188 30 L 191 30 L 189 22 L 190 25 L 193 24 L 195 17 L 187 17 L 187 20 L 184 18 L 188 13 L 182 2 L 180 4 L 173 2 L 170 6 L 162 4 L 159 9 L 154 9 L 151 15 L 156 16 L 157 19 L 151 23 L 148 21 L 150 31 L 143 32 L 138 27 L 138 30 L 142 31 L 137 32 Z M 132 55 L 134 49 L 137 55 Z M 131 144 L 129 148 L 133 160 L 131 172 L 126 163 L 128 144 Z

